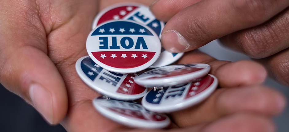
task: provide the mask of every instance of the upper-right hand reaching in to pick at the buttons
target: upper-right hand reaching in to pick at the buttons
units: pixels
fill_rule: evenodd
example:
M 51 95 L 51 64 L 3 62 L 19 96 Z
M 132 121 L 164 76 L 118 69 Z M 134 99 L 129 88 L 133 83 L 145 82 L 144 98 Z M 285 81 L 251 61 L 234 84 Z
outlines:
M 150 9 L 168 21 L 162 32 L 165 49 L 189 51 L 219 39 L 289 86 L 288 0 L 158 0 Z

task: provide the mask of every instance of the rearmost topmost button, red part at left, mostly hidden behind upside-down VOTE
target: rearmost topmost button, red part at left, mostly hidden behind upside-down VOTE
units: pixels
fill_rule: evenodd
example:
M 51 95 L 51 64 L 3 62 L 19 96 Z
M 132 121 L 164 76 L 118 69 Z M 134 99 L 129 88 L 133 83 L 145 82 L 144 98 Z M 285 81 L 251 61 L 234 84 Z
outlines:
M 103 9 L 95 17 L 92 29 L 109 20 L 136 21 L 153 29 L 159 38 L 161 38 L 162 29 L 165 25 L 163 21 L 155 18 L 148 6 L 133 2 L 118 3 Z

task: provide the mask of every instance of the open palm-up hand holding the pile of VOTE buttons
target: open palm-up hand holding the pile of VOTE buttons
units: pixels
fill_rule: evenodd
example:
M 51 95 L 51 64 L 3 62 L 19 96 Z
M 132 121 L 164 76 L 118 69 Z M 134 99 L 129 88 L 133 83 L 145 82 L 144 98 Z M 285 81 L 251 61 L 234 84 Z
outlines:
M 76 60 L 87 55 L 85 41 L 93 18 L 116 2 L 121 1 L 0 1 L 1 83 L 48 122 L 61 122 L 71 132 L 146 131 L 100 115 L 92 106 L 92 99 L 100 94 L 85 85 L 75 70 Z M 274 130 L 270 117 L 283 109 L 285 101 L 280 93 L 260 86 L 266 77 L 260 64 L 218 61 L 197 50 L 179 61 L 197 62 L 211 65 L 210 73 L 221 88 L 198 106 L 171 113 L 175 125 L 170 127 L 183 127 L 168 131 Z

